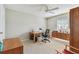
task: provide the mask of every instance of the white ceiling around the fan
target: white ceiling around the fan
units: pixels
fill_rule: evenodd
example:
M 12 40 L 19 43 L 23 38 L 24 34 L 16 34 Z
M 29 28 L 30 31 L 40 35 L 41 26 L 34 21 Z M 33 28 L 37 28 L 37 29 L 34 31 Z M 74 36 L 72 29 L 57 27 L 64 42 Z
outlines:
M 49 9 L 58 7 L 59 9 L 53 10 L 52 13 L 45 12 L 44 4 L 6 4 L 5 8 L 30 13 L 36 16 L 51 17 L 62 13 L 69 12 L 71 8 L 79 7 L 79 4 L 46 4 Z

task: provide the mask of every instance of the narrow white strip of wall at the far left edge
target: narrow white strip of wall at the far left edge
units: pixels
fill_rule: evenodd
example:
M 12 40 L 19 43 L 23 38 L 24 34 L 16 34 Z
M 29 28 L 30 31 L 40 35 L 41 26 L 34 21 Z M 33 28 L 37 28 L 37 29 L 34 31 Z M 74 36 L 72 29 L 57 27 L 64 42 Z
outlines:
M 0 41 L 2 41 L 5 38 L 5 8 L 2 4 L 0 4 L 0 32 L 3 32 L 0 34 Z

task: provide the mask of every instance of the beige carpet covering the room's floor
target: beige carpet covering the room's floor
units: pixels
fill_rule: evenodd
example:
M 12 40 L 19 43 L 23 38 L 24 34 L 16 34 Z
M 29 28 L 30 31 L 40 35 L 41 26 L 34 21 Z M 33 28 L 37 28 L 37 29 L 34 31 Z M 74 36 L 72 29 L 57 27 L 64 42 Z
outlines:
M 37 42 L 26 40 L 24 43 L 25 54 L 56 54 L 56 50 L 62 51 L 68 42 L 58 40 L 57 38 L 50 39 L 50 43 Z

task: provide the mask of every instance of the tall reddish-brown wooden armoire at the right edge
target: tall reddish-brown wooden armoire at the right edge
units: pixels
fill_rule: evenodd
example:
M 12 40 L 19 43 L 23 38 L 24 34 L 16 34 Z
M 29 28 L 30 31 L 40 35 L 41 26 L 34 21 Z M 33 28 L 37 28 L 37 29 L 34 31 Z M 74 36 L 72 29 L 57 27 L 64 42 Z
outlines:
M 70 45 L 79 49 L 79 7 L 70 10 Z M 79 53 L 78 50 L 70 48 Z

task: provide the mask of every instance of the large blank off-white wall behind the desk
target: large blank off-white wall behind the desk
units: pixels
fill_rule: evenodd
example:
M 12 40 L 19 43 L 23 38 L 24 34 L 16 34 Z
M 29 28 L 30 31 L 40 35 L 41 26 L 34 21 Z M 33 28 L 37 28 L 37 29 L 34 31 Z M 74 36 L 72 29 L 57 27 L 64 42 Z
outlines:
M 20 36 L 29 38 L 29 32 L 45 28 L 45 19 L 28 13 L 6 9 L 6 38 Z

